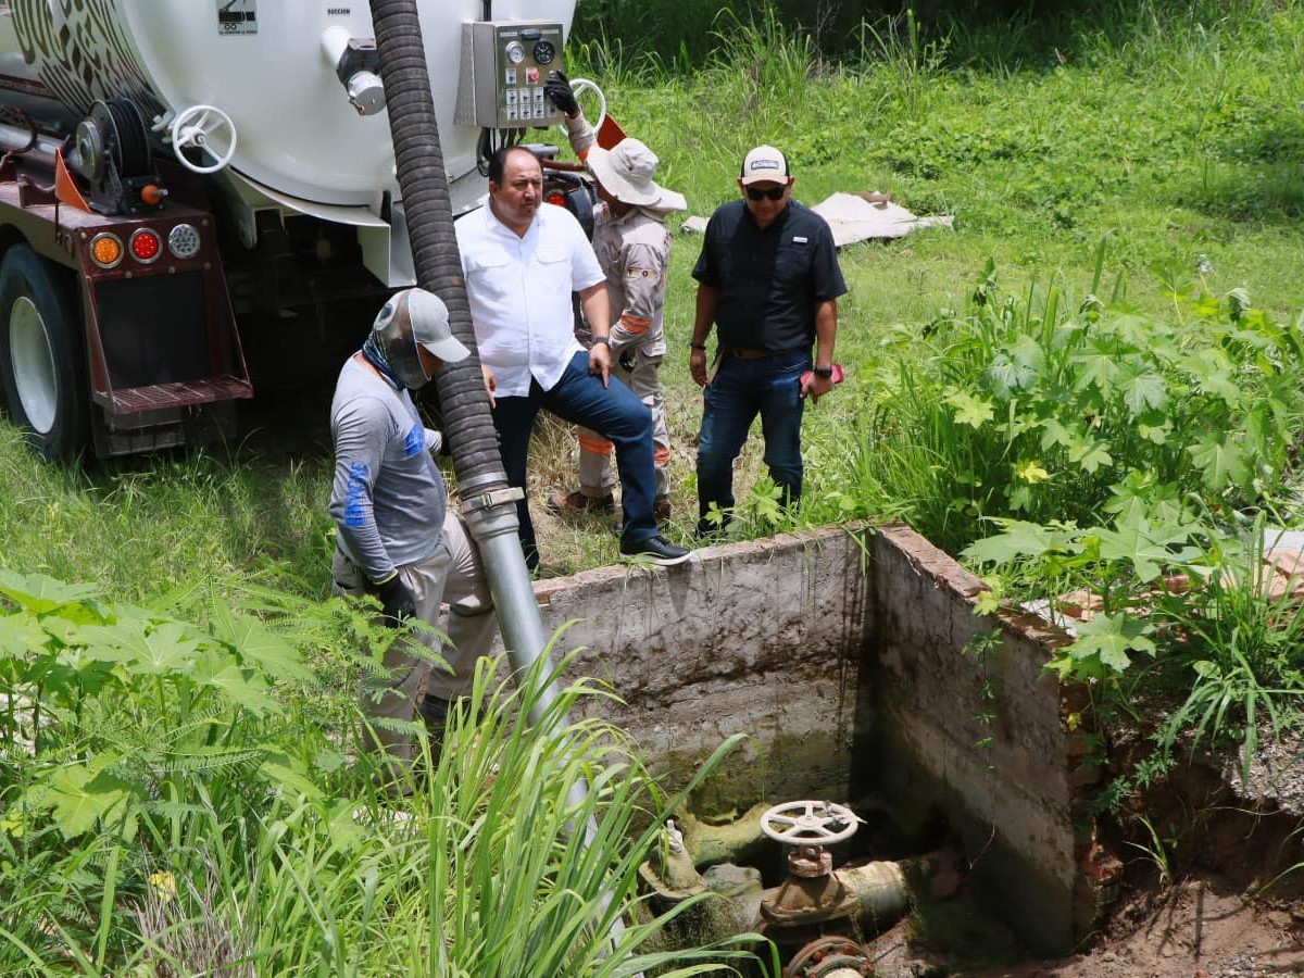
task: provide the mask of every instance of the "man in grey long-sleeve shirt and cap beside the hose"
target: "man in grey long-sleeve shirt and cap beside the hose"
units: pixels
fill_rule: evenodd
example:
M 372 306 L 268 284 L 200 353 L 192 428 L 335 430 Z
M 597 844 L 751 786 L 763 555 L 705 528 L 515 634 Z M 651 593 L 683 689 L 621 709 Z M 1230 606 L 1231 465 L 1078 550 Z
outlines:
M 395 293 L 381 309 L 363 348 L 339 373 L 331 402 L 335 485 L 330 512 L 338 529 L 331 574 L 339 593 L 372 593 L 386 623 L 404 618 L 434 625 L 449 602 L 443 651 L 450 670 L 434 669 L 420 713 L 428 724 L 447 715 L 466 691 L 475 661 L 493 640 L 493 602 L 480 554 L 466 524 L 447 509 L 443 477 L 432 451 L 438 432 L 426 429 L 408 390 L 422 386 L 446 363 L 469 356 L 449 329 L 438 296 L 420 288 Z M 364 681 L 361 705 L 372 720 L 412 720 L 416 692 L 429 666 L 426 630 L 390 643 L 385 673 Z M 394 730 L 366 724 L 363 743 L 389 755 L 390 776 L 402 784 L 411 743 Z

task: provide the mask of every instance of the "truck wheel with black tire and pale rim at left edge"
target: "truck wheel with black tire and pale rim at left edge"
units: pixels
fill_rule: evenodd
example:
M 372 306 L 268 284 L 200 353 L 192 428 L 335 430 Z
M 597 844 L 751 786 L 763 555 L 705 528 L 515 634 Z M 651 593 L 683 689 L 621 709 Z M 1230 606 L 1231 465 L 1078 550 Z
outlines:
M 0 262 L 0 370 L 9 417 L 42 458 L 86 446 L 85 352 L 63 269 L 27 245 Z

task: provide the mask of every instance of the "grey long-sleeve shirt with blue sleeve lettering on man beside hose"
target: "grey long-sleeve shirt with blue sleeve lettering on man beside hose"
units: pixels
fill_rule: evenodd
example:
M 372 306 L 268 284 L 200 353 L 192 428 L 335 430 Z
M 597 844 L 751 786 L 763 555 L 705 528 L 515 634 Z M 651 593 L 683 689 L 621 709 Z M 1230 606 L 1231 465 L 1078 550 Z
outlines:
M 439 542 L 447 490 L 406 390 L 349 357 L 330 407 L 339 545 L 372 582 L 424 561 Z

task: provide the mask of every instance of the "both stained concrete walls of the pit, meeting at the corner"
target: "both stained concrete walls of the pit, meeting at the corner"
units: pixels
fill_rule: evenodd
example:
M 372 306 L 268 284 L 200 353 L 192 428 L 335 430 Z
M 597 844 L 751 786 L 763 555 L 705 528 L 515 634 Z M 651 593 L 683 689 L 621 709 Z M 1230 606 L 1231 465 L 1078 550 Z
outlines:
M 785 535 L 535 591 L 545 627 L 570 623 L 563 647 L 584 647 L 572 674 L 623 700 L 595 708 L 668 781 L 725 737 L 751 735 L 695 797 L 698 812 L 845 802 L 874 786 L 906 829 L 945 818 L 985 902 L 1030 948 L 1065 952 L 1089 932 L 1099 880 L 1080 795 L 1095 777 L 1063 719 L 1072 691 L 1042 673 L 1063 635 L 977 618 L 979 582 L 913 531 Z M 966 651 L 990 630 L 994 652 Z

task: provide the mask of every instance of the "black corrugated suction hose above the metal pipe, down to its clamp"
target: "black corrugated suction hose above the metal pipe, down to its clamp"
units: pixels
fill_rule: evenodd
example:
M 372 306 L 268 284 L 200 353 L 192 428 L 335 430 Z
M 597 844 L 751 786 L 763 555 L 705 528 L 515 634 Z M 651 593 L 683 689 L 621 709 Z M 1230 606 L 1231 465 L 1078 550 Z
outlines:
M 469 357 L 451 364 L 436 377 L 452 467 L 463 498 L 467 498 L 472 493 L 506 486 L 507 475 L 498 454 L 462 279 L 417 3 L 372 0 L 372 21 L 416 283 L 443 300 L 449 306 L 452 334 L 471 349 Z

